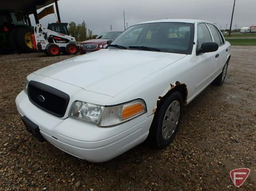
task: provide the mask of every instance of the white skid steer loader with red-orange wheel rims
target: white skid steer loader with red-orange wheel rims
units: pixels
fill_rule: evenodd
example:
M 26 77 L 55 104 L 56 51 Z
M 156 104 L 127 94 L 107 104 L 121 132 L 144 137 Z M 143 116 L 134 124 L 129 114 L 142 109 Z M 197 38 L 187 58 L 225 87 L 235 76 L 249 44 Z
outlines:
M 51 31 L 41 24 L 34 26 L 32 45 L 37 51 L 45 52 L 48 56 L 76 54 L 78 46 L 74 37 Z

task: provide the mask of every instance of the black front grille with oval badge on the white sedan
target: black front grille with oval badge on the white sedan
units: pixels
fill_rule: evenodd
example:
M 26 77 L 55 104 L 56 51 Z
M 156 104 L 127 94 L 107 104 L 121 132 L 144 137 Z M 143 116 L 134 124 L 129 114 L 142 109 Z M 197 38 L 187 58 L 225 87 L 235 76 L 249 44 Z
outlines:
M 63 117 L 67 110 L 69 96 L 43 83 L 30 81 L 28 84 L 28 98 L 38 108 L 57 117 Z

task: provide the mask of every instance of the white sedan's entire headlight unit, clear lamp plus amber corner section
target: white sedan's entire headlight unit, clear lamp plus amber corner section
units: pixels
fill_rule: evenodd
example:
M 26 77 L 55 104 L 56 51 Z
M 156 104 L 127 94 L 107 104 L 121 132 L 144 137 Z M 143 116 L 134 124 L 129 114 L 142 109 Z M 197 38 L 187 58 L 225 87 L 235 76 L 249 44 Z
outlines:
M 134 119 L 146 112 L 146 104 L 141 99 L 106 107 L 76 101 L 73 104 L 71 116 L 100 127 L 110 127 Z

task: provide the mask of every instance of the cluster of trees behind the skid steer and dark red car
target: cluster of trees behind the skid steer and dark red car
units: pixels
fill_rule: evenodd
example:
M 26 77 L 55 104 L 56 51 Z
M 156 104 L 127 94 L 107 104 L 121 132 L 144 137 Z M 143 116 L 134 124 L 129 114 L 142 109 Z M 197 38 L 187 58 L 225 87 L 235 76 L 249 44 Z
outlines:
M 76 24 L 74 21 L 68 23 L 69 33 L 76 41 L 83 41 L 96 38 L 97 35 L 93 35 L 93 32 L 86 27 L 85 21 L 81 24 Z

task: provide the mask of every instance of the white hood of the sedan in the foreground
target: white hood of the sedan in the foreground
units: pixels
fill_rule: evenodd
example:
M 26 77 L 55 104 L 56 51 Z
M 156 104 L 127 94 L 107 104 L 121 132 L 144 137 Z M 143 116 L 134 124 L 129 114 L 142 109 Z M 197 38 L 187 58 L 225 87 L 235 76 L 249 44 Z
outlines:
M 185 56 L 165 52 L 103 49 L 47 66 L 34 73 L 114 97 Z

